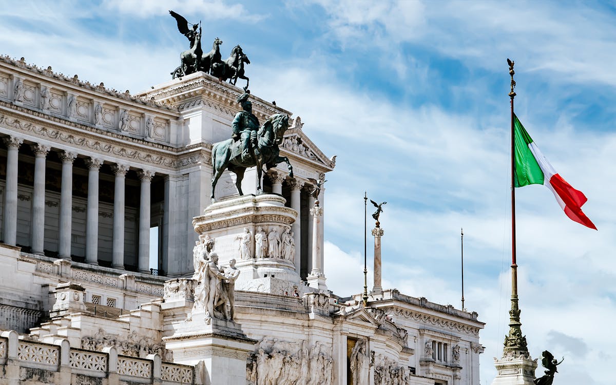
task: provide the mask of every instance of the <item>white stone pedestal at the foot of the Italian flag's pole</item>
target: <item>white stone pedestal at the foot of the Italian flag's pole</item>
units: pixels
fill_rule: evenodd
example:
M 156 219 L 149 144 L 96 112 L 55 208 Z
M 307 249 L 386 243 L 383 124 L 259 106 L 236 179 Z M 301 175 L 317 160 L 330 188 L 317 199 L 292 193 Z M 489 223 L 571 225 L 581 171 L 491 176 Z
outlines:
M 492 385 L 534 385 L 537 359 L 533 360 L 527 352 L 523 354 L 507 353 L 500 359 L 494 359 L 496 378 Z

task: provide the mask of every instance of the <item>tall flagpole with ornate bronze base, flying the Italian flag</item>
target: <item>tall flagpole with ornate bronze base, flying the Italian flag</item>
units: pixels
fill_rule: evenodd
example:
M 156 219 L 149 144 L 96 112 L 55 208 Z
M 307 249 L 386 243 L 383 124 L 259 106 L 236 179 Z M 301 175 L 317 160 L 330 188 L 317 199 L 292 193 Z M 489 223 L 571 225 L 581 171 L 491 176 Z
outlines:
M 511 75 L 511 310 L 509 310 L 509 334 L 505 337 L 505 349 L 503 355 L 529 355 L 526 344 L 526 337 L 522 335 L 522 323 L 520 322 L 520 308 L 517 298 L 517 261 L 516 261 L 516 156 L 515 156 L 515 137 L 513 98 L 516 97 L 514 91 L 516 81 L 513 75 L 513 60 L 507 59 L 509 64 L 509 75 Z

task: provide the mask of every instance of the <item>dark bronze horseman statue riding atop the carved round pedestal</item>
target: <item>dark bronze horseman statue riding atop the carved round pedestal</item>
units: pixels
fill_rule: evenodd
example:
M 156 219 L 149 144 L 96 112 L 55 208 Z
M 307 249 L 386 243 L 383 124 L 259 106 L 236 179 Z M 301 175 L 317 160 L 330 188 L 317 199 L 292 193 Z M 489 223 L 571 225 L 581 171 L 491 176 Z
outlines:
M 237 175 L 235 186 L 241 191 L 241 180 L 249 167 L 257 169 L 257 192 L 261 193 L 261 176 L 265 169 L 274 168 L 278 163 L 285 162 L 289 176 L 293 177 L 293 167 L 289 158 L 280 156 L 278 145 L 282 143 L 285 131 L 289 127 L 289 116 L 276 113 L 270 116 L 261 127 L 259 120 L 253 114 L 253 105 L 248 100 L 248 89 L 237 98 L 242 111 L 233 118 L 231 139 L 218 142 L 212 146 L 212 201 L 214 188 L 222 173 L 228 169 Z

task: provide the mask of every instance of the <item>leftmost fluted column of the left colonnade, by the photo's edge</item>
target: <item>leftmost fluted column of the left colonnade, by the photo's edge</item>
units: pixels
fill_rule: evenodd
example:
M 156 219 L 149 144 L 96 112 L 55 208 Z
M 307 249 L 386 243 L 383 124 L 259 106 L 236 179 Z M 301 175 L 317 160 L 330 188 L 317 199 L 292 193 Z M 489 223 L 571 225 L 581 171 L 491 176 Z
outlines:
M 2 223 L 2 238 L 7 245 L 17 243 L 17 160 L 19 146 L 23 139 L 9 136 L 4 138 L 9 147 L 6 160 L 6 185 L 4 187 L 4 212 Z

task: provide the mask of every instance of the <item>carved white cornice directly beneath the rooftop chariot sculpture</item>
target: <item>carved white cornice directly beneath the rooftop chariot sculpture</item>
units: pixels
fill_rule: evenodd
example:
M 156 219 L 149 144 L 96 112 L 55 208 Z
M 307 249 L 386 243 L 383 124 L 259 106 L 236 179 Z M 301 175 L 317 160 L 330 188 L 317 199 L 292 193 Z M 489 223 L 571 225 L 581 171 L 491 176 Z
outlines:
M 240 105 L 236 99 L 244 92 L 240 87 L 221 82 L 203 72 L 193 73 L 184 76 L 180 81 L 174 79 L 154 87 L 155 89 L 152 91 L 144 91 L 137 95 L 145 97 L 145 99 L 153 97 L 154 100 L 176 105 L 180 111 L 196 107 L 198 103 L 203 103 L 203 101 L 209 101 L 211 103 L 211 105 L 208 104 L 209 107 L 217 105 L 214 108 L 218 108 L 228 115 L 235 115 L 237 111 L 240 111 Z M 293 115 L 290 111 L 265 102 L 265 100 L 253 94 L 250 95 L 250 100 L 253 103 L 253 112 L 257 115 L 259 121 L 264 121 L 275 113 Z

